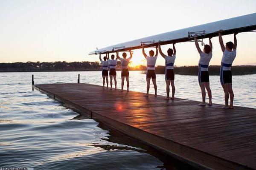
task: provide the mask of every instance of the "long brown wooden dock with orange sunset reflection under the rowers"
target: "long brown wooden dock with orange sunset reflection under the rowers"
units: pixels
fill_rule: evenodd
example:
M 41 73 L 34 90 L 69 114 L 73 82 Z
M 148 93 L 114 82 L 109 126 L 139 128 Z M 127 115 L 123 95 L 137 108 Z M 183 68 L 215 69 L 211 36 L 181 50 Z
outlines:
M 216 170 L 256 169 L 256 109 L 200 107 L 90 84 L 35 85 L 81 114 L 166 153 Z

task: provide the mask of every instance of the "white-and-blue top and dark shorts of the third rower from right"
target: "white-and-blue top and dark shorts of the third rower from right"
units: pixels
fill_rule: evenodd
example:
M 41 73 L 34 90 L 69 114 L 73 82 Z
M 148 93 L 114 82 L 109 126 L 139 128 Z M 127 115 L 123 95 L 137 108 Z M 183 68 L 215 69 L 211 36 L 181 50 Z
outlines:
M 175 59 L 176 59 L 176 55 L 165 56 L 165 60 L 166 60 L 165 79 L 166 80 L 174 80 L 174 62 L 175 62 Z

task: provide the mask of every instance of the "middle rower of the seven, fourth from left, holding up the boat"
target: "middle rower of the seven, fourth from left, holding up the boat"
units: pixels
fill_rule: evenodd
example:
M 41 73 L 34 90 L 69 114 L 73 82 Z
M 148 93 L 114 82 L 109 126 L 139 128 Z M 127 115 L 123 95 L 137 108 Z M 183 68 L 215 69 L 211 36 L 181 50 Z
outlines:
M 154 84 L 154 89 L 155 89 L 155 97 L 157 96 L 157 82 L 156 82 L 156 73 L 155 73 L 155 65 L 157 62 L 157 55 L 158 55 L 158 50 L 156 46 L 156 55 L 154 56 L 154 51 L 151 50 L 149 51 L 149 56 L 145 54 L 145 49 L 144 45 L 142 47 L 142 53 L 147 60 L 147 73 L 146 73 L 146 81 L 147 81 L 147 94 L 144 95 L 145 97 L 148 97 L 148 92 L 149 92 L 149 85 L 150 85 L 150 79 L 152 78 L 152 82 Z

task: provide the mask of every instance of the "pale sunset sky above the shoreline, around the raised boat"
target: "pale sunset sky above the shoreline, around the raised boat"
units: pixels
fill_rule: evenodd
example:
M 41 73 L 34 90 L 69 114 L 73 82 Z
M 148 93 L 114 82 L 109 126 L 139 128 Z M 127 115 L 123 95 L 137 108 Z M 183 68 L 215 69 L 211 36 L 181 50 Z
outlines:
M 256 0 L 0 0 L 0 62 L 99 61 L 88 55 L 96 47 L 255 12 Z M 237 40 L 233 65 L 256 64 L 256 32 L 239 33 Z M 212 43 L 210 65 L 219 65 L 218 38 Z M 176 50 L 175 65 L 198 65 L 194 43 L 177 43 Z M 143 59 L 135 50 L 132 61 Z

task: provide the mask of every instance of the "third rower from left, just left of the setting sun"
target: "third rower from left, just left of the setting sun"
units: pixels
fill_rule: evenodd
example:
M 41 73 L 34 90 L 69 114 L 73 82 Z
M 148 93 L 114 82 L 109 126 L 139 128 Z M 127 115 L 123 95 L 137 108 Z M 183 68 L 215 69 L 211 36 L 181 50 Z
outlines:
M 121 91 L 123 91 L 124 88 L 124 81 L 126 79 L 126 83 L 127 83 L 127 91 L 129 91 L 129 70 L 128 70 L 128 64 L 132 58 L 132 53 L 131 50 L 129 50 L 130 52 L 130 57 L 127 59 L 127 54 L 124 52 L 122 54 L 123 58 L 120 58 L 118 55 L 119 51 L 116 51 L 116 58 L 118 58 L 121 61 L 122 64 L 122 72 L 121 72 L 121 79 L 122 79 L 122 83 L 121 83 Z

